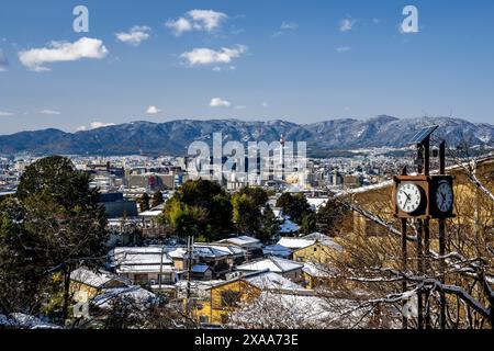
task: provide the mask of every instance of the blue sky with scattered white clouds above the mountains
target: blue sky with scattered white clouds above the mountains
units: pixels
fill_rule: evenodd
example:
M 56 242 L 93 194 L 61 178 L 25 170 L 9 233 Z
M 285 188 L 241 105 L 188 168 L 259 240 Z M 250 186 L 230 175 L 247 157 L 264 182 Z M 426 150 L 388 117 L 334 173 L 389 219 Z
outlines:
M 72 30 L 78 4 L 89 33 Z M 407 4 L 418 33 L 398 30 Z M 491 0 L 2 0 L 0 134 L 183 117 L 494 123 L 493 37 Z

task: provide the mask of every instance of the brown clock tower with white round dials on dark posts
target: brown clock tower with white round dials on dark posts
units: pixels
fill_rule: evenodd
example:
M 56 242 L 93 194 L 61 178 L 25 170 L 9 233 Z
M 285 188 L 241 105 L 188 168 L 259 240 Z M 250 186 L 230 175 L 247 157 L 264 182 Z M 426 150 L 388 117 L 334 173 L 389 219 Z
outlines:
M 446 219 L 454 217 L 453 179 L 446 174 L 446 143 L 439 147 L 439 172 L 430 174 L 430 136 L 438 128 L 437 125 L 425 127 L 418 132 L 411 144 L 417 147 L 417 173 L 408 174 L 406 167 L 400 176 L 393 178 L 394 188 L 392 205 L 394 216 L 402 224 L 402 271 L 408 269 L 407 225 L 413 222 L 416 236 L 416 264 L 419 274 L 427 274 L 430 269 L 430 220 L 439 224 L 439 256 L 440 281 L 445 282 L 445 251 L 446 251 Z M 402 282 L 403 292 L 407 292 L 406 281 Z M 424 314 L 424 297 L 428 295 L 417 292 L 417 327 L 430 328 L 430 316 Z M 428 304 L 426 303 L 426 306 Z M 407 318 L 403 317 L 403 328 L 407 328 Z M 446 297 L 440 293 L 440 326 L 446 328 Z

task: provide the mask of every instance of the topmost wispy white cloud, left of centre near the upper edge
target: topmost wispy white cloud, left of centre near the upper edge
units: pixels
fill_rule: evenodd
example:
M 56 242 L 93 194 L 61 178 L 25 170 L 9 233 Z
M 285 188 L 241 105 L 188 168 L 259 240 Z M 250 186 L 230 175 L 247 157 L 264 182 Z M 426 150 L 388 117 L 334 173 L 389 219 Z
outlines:
M 212 32 L 227 18 L 225 13 L 213 10 L 192 10 L 178 20 L 168 20 L 165 25 L 179 36 L 191 31 Z

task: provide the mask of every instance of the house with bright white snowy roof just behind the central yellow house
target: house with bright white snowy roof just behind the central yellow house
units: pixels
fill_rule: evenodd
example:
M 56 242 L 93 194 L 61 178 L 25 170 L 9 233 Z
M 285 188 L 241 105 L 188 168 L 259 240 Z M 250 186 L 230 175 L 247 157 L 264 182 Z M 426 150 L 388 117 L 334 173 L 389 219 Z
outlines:
M 303 267 L 304 265 L 302 263 L 297 263 L 274 256 L 269 256 L 263 259 L 258 259 L 255 261 L 240 264 L 237 267 L 237 271 L 246 273 L 246 272 L 260 272 L 268 270 L 270 272 L 274 272 L 284 278 L 288 278 L 295 283 L 300 283 L 303 281 L 302 274 Z

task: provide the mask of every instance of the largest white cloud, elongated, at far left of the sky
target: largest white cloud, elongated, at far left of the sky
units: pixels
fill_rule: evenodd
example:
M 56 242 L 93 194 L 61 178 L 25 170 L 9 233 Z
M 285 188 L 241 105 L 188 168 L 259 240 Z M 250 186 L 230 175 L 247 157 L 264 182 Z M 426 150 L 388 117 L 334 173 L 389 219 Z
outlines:
M 75 43 L 52 42 L 48 47 L 19 53 L 21 64 L 34 71 L 46 71 L 44 64 L 76 61 L 82 58 L 102 59 L 108 49 L 100 39 L 82 37 Z

